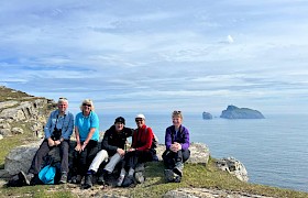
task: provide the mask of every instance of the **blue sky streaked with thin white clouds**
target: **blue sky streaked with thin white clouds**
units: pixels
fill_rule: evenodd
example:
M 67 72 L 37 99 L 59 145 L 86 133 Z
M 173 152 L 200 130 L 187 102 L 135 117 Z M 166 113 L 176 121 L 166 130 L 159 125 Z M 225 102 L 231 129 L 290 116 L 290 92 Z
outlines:
M 0 85 L 78 111 L 308 112 L 308 1 L 0 2 Z

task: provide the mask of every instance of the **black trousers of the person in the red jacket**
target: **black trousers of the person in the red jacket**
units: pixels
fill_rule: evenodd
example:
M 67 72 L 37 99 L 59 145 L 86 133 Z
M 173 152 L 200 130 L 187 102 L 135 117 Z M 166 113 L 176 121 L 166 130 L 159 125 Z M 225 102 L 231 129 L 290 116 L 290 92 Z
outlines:
M 153 153 L 151 151 L 132 151 L 124 155 L 124 161 L 122 162 L 122 168 L 135 168 L 136 164 L 151 162 L 153 160 Z

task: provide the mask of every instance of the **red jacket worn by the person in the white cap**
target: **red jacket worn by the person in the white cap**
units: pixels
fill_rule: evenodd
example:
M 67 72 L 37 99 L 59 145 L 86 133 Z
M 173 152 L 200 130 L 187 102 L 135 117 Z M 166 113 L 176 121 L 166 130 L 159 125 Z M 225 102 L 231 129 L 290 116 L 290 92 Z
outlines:
M 153 131 L 145 124 L 141 129 L 136 129 L 133 133 L 132 147 L 139 151 L 147 151 L 151 148 L 153 140 Z

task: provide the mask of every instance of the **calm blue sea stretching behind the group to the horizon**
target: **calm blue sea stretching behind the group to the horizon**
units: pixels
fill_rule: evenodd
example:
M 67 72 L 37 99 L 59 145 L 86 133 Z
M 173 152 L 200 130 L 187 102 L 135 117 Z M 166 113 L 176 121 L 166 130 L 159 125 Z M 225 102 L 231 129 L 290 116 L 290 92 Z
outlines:
M 144 113 L 164 143 L 172 125 L 170 113 Z M 100 131 L 106 131 L 122 116 L 127 127 L 136 128 L 135 113 L 98 113 Z M 308 191 L 308 121 L 302 114 L 270 114 L 265 119 L 204 120 L 202 113 L 184 114 L 190 142 L 209 146 L 215 158 L 234 157 L 242 162 L 250 183 Z

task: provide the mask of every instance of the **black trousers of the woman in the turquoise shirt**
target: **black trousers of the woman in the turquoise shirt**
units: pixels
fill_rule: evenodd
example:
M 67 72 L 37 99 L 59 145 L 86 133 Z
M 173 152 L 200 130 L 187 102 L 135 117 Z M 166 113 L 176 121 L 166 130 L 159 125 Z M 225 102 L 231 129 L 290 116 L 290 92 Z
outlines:
M 82 144 L 84 142 L 81 142 Z M 89 166 L 91 165 L 96 154 L 98 153 L 98 142 L 90 140 L 82 152 L 77 152 L 74 150 L 73 157 L 73 175 L 85 176 Z

